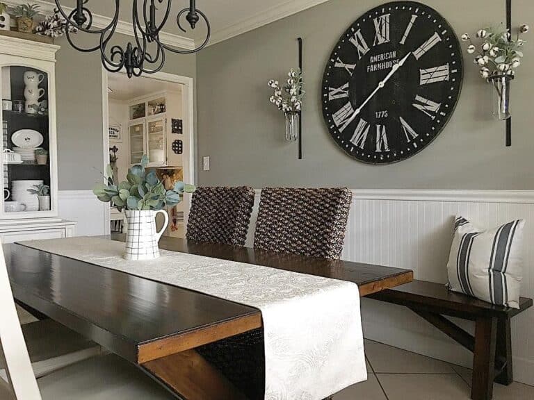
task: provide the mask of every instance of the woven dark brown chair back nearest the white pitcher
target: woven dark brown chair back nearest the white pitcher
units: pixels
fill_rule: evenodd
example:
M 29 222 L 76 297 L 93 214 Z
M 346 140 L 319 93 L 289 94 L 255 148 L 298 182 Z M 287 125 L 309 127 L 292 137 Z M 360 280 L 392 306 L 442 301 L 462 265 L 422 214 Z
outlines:
M 252 206 L 252 188 L 197 188 L 191 201 L 186 238 L 244 246 Z

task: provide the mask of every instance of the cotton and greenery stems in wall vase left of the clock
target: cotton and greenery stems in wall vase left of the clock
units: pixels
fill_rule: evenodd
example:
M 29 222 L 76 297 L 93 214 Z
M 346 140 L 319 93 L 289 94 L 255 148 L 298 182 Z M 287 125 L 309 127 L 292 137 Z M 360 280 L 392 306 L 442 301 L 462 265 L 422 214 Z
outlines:
M 277 106 L 278 110 L 284 113 L 300 112 L 302 110 L 302 100 L 305 96 L 304 79 L 300 68 L 293 69 L 287 74 L 288 79 L 284 86 L 280 88 L 280 83 L 271 79 L 268 82 L 270 88 L 275 90 L 275 94 L 270 97 L 270 102 Z

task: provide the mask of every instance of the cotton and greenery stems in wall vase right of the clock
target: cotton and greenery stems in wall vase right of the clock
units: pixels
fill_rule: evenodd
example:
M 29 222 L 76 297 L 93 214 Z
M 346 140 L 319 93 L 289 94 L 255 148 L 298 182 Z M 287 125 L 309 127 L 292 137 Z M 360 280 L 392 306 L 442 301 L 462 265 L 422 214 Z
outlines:
M 510 31 L 501 24 L 477 31 L 476 38 L 480 41 L 478 47 L 467 33 L 462 35 L 462 41 L 469 42 L 469 54 L 476 53 L 474 63 L 480 67 L 480 76 L 485 79 L 503 74 L 513 76 L 524 56 L 521 48 L 526 41 L 521 39 L 521 35 L 529 30 L 528 25 L 519 26 L 517 37 L 513 39 Z

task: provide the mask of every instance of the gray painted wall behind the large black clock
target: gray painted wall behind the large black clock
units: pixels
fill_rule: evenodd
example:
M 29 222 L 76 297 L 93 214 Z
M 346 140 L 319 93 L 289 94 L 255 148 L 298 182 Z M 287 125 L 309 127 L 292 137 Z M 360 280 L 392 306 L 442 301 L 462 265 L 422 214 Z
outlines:
M 424 0 L 458 35 L 505 21 L 505 0 Z M 534 39 L 513 83 L 513 147 L 504 147 L 504 123 L 491 116 L 491 88 L 465 53 L 463 92 L 451 122 L 430 146 L 390 166 L 346 156 L 330 139 L 320 108 L 320 85 L 330 51 L 346 28 L 383 0 L 331 0 L 286 19 L 215 44 L 197 56 L 198 156 L 211 156 L 201 185 L 346 185 L 350 188 L 534 189 Z M 534 25 L 534 2 L 516 0 L 514 24 Z M 520 18 L 520 19 L 519 19 Z M 532 35 L 532 33 L 531 33 Z M 268 102 L 270 78 L 297 65 L 296 38 L 304 39 L 307 100 L 303 110 L 305 160 L 287 144 L 284 119 Z

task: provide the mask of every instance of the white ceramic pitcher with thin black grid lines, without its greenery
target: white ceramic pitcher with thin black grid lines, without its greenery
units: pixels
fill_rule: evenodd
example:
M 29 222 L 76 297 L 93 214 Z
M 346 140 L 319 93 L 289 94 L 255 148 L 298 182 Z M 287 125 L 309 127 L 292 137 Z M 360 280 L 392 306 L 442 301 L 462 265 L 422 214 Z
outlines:
M 165 217 L 161 231 L 156 231 L 156 215 Z M 165 210 L 126 210 L 128 230 L 126 233 L 127 260 L 154 260 L 159 257 L 158 242 L 169 224 L 169 215 Z

